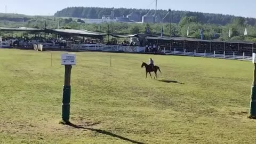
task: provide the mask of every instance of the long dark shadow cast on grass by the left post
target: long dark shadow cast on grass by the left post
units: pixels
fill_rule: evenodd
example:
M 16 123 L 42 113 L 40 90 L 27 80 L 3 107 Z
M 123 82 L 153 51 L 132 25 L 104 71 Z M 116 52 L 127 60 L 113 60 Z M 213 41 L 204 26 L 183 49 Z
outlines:
M 100 133 L 100 134 L 106 134 L 106 135 L 109 135 L 111 137 L 119 138 L 121 140 L 129 141 L 129 142 L 132 142 L 132 143 L 145 144 L 143 142 L 138 142 L 138 141 L 135 141 L 135 140 L 131 140 L 131 139 L 122 137 L 120 135 L 117 135 L 117 134 L 114 134 L 114 133 L 111 133 L 111 132 L 108 132 L 108 131 L 105 131 L 105 130 L 92 129 L 92 128 L 89 128 L 89 127 L 78 126 L 78 125 L 75 125 L 73 123 L 67 123 L 67 125 L 69 125 L 71 127 L 74 127 L 75 129 L 84 129 L 84 130 L 89 130 L 89 131 L 97 132 L 97 133 Z

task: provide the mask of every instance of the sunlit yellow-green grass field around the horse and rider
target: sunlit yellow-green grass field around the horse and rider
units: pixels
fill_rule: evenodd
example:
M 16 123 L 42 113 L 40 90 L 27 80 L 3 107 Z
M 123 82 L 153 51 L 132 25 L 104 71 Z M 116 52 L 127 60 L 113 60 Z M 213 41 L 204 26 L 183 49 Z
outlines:
M 0 143 L 255 143 L 251 62 L 77 53 L 72 127 L 59 124 L 61 53 L 0 49 Z M 145 79 L 150 57 L 178 83 Z

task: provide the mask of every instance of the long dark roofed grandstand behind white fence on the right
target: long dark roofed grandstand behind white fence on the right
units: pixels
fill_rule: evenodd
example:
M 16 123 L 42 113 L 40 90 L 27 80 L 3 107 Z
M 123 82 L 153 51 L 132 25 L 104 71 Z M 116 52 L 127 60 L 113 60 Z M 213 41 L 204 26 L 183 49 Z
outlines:
M 253 42 L 236 42 L 236 41 L 207 41 L 186 37 L 146 37 L 146 43 L 157 44 L 161 49 L 174 51 L 186 51 L 198 53 L 213 53 L 227 55 L 252 56 L 256 52 L 256 43 Z

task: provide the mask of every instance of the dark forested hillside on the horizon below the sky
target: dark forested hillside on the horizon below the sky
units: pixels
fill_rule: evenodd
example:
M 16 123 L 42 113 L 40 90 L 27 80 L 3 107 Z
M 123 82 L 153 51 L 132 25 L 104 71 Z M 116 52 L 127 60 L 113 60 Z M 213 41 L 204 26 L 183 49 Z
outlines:
M 76 18 L 90 18 L 90 19 L 101 19 L 102 15 L 111 14 L 113 8 L 101 8 L 101 7 L 68 7 L 61 11 L 58 11 L 54 14 L 55 17 L 76 17 Z M 145 9 L 125 9 L 119 8 L 115 9 L 115 17 L 123 17 L 130 13 L 140 14 L 141 17 L 149 12 L 149 10 Z M 149 12 L 150 14 L 154 14 L 154 10 Z M 158 10 L 157 13 L 159 17 L 164 18 L 167 13 L 167 10 Z M 231 21 L 233 21 L 235 17 L 234 15 L 223 15 L 223 14 L 213 14 L 213 13 L 202 13 L 202 12 L 189 12 L 189 11 L 172 11 L 172 22 L 179 23 L 180 20 L 187 17 L 197 17 L 198 21 L 201 23 L 213 23 L 218 25 L 227 25 Z M 169 17 L 164 19 L 164 22 L 169 22 Z M 248 25 L 255 26 L 256 19 L 254 18 L 245 18 L 245 22 Z

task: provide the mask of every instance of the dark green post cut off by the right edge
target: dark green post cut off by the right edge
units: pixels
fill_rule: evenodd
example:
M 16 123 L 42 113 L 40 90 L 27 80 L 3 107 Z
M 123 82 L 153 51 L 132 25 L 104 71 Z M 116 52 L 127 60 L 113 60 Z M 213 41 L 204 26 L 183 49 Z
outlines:
M 256 118 L 256 63 L 254 63 L 254 74 L 253 74 L 251 105 L 250 105 L 250 118 Z

